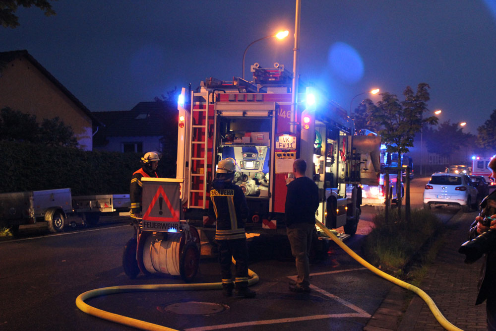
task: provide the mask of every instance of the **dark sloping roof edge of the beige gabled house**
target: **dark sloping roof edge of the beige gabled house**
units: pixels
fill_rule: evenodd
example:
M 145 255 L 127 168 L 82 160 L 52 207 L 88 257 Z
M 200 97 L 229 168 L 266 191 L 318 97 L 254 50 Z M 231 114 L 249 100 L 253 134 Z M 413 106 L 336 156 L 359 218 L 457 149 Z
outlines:
M 100 121 L 93 116 L 88 108 L 81 101 L 79 101 L 72 93 L 69 92 L 62 83 L 57 80 L 44 66 L 42 66 L 38 61 L 33 58 L 27 50 L 10 51 L 10 52 L 0 52 L 0 70 L 1 67 L 7 65 L 8 63 L 25 57 L 33 66 L 35 66 L 41 73 L 43 73 L 55 86 L 57 86 L 62 93 L 64 93 L 74 104 L 79 107 L 92 121 L 93 124 L 101 125 Z M 96 122 L 96 123 L 95 123 Z

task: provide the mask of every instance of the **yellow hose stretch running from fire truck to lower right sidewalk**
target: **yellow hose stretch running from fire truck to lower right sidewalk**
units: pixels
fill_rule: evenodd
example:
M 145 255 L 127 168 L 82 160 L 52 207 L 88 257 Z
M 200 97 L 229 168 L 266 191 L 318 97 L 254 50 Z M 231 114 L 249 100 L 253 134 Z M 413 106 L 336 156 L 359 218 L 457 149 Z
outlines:
M 328 228 L 326 228 L 324 224 L 322 224 L 318 220 L 315 220 L 315 222 L 317 223 L 318 227 L 321 228 L 322 231 L 324 231 L 324 233 L 326 235 L 328 235 L 336 244 L 339 245 L 339 247 L 341 247 L 346 253 L 348 253 L 349 256 L 351 256 L 353 259 L 355 259 L 358 263 L 365 266 L 367 269 L 371 270 L 373 273 L 381 276 L 382 278 L 389 280 L 390 282 L 392 282 L 398 286 L 406 288 L 407 290 L 410 290 L 410 291 L 414 292 L 415 294 L 417 294 L 419 297 L 421 297 L 429 306 L 429 309 L 433 313 L 437 322 L 439 322 L 439 324 L 444 329 L 446 329 L 448 331 L 452 331 L 452 330 L 453 331 L 454 330 L 461 331 L 461 329 L 455 327 L 454 325 L 449 323 L 448 320 L 446 320 L 446 318 L 442 315 L 442 313 L 439 311 L 439 309 L 435 305 L 433 299 L 429 295 L 427 295 L 426 292 L 424 292 L 423 290 L 421 290 L 417 286 L 414 286 L 412 284 L 404 282 L 403 280 L 400 280 L 398 278 L 394 278 L 393 276 L 385 273 L 384 271 L 377 269 L 375 266 L 371 265 L 370 263 L 368 263 L 367 261 L 362 259 L 358 254 L 353 252 L 353 250 L 351 250 L 341 240 L 339 240 L 338 237 L 336 237 L 336 235 L 334 233 L 332 233 L 332 231 L 330 231 Z

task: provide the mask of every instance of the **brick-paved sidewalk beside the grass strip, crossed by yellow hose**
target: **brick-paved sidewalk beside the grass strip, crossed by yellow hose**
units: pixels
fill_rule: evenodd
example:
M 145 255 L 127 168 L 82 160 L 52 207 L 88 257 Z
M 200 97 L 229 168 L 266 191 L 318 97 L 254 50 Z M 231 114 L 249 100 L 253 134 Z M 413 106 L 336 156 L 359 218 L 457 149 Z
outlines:
M 446 244 L 419 286 L 433 300 L 442 315 L 465 331 L 487 330 L 486 304 L 476 306 L 477 282 L 483 258 L 472 265 L 458 248 L 467 240 L 468 227 L 477 212 L 458 212 L 446 224 Z M 409 291 L 394 286 L 364 328 L 366 331 L 444 330 L 418 295 L 408 304 Z M 405 305 L 408 305 L 407 308 Z M 406 311 L 405 311 L 406 308 Z

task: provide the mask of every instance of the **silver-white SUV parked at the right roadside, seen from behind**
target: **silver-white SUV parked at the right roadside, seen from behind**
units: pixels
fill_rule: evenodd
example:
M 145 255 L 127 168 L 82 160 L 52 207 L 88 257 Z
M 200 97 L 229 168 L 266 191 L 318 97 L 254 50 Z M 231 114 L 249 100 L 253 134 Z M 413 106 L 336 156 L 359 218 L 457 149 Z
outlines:
M 479 192 L 465 174 L 436 172 L 424 189 L 424 208 L 433 205 L 458 205 L 469 212 L 477 208 Z

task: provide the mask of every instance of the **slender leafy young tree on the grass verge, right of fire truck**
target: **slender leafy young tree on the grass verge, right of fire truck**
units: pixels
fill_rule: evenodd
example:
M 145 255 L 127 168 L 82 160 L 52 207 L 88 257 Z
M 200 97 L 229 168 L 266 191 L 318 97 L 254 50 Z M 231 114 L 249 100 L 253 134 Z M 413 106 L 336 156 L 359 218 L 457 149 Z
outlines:
M 398 160 L 401 160 L 401 154 L 409 151 L 408 147 L 413 147 L 415 133 L 420 132 L 424 124 L 437 123 L 435 116 L 423 117 L 424 112 L 429 111 L 429 88 L 428 84 L 420 83 L 414 93 L 413 89 L 407 86 L 403 91 L 405 100 L 401 102 L 396 95 L 384 92 L 380 94 L 382 100 L 378 101 L 377 105 L 370 102 L 367 106 L 367 122 L 378 129 L 377 134 L 386 145 L 386 151 L 398 153 Z M 399 176 L 401 171 L 398 171 L 398 178 Z M 398 204 L 401 205 L 399 185 L 396 190 Z

